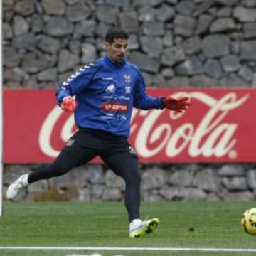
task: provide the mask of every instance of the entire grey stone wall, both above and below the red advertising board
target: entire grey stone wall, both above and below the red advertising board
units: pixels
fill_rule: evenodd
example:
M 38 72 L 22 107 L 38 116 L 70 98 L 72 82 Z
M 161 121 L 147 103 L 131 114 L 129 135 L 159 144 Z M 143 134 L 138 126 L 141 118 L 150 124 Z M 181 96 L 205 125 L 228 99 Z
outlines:
M 55 88 L 104 53 L 105 31 L 130 34 L 128 58 L 155 87 L 255 87 L 255 0 L 3 0 L 4 87 Z M 35 166 L 5 166 L 4 185 Z M 249 200 L 256 164 L 142 166 L 142 198 Z M 28 188 L 28 200 L 120 200 L 105 166 Z

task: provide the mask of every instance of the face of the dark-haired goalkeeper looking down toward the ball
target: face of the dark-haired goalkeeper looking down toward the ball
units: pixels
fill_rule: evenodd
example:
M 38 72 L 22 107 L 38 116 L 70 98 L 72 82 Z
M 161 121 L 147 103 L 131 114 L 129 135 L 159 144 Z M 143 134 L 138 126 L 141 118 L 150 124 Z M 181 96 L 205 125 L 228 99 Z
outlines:
M 105 48 L 107 54 L 116 63 L 122 63 L 127 50 L 128 41 L 127 39 L 114 38 L 112 43 L 105 42 Z

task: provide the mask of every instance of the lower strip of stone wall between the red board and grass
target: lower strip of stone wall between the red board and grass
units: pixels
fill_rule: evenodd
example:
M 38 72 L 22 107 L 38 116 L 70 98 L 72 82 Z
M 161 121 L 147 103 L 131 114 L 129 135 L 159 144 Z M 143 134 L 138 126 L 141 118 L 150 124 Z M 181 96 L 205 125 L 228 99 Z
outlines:
M 242 200 L 256 198 L 255 164 L 142 165 L 142 200 Z M 5 166 L 4 192 L 11 181 L 36 166 Z M 4 193 L 5 194 L 5 193 Z M 33 183 L 18 200 L 120 201 L 124 181 L 102 165 L 87 165 L 68 174 Z

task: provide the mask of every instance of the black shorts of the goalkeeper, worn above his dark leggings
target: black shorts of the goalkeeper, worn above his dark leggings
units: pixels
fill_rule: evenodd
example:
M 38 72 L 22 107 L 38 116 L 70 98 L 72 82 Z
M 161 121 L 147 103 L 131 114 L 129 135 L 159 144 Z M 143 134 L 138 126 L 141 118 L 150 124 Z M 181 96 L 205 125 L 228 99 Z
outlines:
M 136 152 L 127 141 L 126 137 L 110 134 L 97 129 L 79 129 L 66 143 L 63 151 L 73 156 L 84 155 L 92 159 L 100 156 L 105 159 L 107 156 L 127 152 L 137 157 Z

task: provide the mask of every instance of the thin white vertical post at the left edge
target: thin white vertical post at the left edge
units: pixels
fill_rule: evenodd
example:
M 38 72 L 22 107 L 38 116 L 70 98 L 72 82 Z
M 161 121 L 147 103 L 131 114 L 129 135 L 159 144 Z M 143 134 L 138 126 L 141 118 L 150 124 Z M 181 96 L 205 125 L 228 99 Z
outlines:
M 2 26 L 3 1 L 0 0 L 0 217 L 3 215 L 3 60 L 2 60 Z

